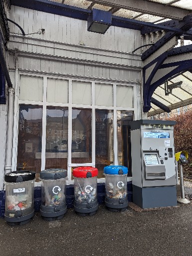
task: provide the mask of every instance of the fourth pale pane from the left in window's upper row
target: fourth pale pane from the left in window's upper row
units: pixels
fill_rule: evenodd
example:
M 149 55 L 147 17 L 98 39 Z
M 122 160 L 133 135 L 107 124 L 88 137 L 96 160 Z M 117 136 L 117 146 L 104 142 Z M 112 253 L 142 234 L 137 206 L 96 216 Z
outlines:
M 95 105 L 113 106 L 113 85 L 95 84 Z

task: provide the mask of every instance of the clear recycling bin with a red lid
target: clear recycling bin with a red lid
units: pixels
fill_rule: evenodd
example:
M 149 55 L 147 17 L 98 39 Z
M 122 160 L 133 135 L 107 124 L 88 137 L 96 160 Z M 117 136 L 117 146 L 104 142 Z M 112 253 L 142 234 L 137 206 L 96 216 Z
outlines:
M 74 210 L 81 216 L 93 215 L 98 209 L 97 175 L 98 169 L 92 166 L 73 169 Z

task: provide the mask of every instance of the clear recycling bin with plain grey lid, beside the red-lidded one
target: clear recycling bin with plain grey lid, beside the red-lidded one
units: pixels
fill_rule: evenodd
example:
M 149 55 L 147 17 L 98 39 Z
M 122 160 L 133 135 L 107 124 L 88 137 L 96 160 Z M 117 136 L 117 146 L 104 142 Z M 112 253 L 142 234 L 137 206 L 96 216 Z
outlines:
M 67 211 L 65 169 L 45 169 L 40 172 L 41 207 L 40 214 L 45 220 L 61 219 Z

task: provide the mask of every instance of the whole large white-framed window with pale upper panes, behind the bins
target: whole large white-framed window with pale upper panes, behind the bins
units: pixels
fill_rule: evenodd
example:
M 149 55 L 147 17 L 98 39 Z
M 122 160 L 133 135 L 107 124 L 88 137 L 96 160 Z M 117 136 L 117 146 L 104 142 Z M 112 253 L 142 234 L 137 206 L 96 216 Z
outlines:
M 69 180 L 75 166 L 97 167 L 98 178 L 106 165 L 130 169 L 134 86 L 20 75 L 18 102 L 17 169 L 38 178 L 42 169 L 64 168 Z

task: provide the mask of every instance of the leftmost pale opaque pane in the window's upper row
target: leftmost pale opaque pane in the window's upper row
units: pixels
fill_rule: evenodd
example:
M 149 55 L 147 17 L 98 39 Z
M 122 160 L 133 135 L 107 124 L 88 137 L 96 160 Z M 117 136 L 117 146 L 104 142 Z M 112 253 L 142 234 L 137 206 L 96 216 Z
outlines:
M 43 78 L 20 76 L 19 99 L 43 101 Z

